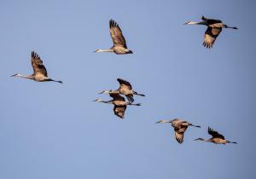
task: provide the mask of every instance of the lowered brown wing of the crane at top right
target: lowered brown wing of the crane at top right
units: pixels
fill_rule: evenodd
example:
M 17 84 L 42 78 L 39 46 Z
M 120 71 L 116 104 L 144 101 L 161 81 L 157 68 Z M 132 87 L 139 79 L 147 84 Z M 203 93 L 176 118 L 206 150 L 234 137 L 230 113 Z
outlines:
M 207 48 L 212 48 L 213 43 L 215 42 L 216 38 L 218 37 L 218 34 L 222 31 L 222 28 L 220 27 L 210 27 L 208 26 L 207 31 L 205 32 L 205 40 L 203 42 L 203 45 Z

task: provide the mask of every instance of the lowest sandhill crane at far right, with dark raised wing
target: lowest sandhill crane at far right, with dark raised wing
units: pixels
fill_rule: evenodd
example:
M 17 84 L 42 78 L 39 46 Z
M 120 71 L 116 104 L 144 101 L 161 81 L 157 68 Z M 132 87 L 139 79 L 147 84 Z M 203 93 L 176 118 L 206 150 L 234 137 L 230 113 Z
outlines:
M 226 143 L 237 143 L 236 141 L 228 141 L 224 138 L 223 135 L 219 134 L 217 131 L 212 130 L 210 127 L 208 127 L 208 134 L 212 136 L 210 139 L 202 139 L 202 138 L 197 138 L 195 141 L 209 141 L 213 142 L 215 144 L 226 144 Z

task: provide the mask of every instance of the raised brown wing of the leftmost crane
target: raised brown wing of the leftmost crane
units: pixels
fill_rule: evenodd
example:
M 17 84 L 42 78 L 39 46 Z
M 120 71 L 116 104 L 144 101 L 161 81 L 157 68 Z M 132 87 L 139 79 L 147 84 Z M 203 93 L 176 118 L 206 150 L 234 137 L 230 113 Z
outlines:
M 47 77 L 47 71 L 43 64 L 43 61 L 41 61 L 40 56 L 34 51 L 32 51 L 31 62 L 32 62 L 34 74 L 40 73 L 40 74 L 43 74 L 45 77 Z

